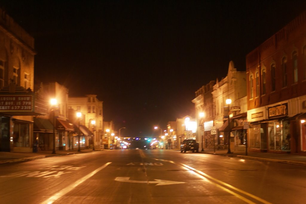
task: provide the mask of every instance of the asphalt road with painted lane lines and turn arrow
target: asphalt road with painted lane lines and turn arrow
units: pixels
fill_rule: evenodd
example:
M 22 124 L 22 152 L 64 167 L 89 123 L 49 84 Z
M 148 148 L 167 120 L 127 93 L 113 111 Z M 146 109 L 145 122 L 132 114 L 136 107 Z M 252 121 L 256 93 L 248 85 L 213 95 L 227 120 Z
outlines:
M 306 168 L 175 150 L 0 165 L 0 203 L 304 203 Z

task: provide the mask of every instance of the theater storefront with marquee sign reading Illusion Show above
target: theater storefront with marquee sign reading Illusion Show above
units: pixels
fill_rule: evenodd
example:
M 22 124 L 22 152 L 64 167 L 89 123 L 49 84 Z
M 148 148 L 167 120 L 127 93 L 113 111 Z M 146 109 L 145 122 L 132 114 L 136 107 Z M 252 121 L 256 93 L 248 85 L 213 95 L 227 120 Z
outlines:
M 34 101 L 32 91 L 22 87 L 10 84 L 0 92 L 0 151 L 32 152 L 37 147 L 33 116 L 46 115 L 45 107 L 38 98 Z

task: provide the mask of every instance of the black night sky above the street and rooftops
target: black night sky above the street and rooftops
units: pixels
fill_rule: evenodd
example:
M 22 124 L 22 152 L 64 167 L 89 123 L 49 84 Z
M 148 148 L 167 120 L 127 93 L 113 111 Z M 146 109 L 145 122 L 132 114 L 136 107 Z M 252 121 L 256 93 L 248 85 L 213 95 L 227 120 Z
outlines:
M 126 136 L 194 116 L 194 92 L 225 77 L 306 1 L 0 1 L 35 38 L 35 83 L 96 94 Z M 122 131 L 123 133 L 123 131 Z

